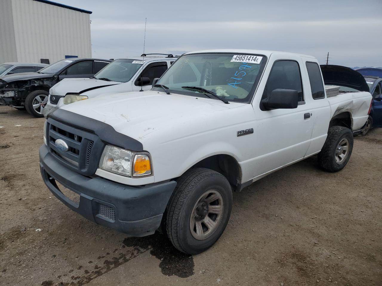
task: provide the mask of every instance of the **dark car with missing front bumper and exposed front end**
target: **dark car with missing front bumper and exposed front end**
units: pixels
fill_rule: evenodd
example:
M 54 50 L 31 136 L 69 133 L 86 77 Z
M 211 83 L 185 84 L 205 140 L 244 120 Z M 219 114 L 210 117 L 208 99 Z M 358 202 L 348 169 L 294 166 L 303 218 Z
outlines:
M 108 59 L 70 58 L 40 69 L 0 78 L 0 104 L 26 109 L 34 117 L 43 117 L 49 89 L 62 79 L 92 77 L 111 61 Z

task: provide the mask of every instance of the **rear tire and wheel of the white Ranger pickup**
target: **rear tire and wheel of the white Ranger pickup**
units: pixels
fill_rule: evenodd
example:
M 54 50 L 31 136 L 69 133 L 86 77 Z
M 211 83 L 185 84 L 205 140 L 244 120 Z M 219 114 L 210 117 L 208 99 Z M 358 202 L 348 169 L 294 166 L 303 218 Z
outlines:
M 348 163 L 353 151 L 353 132 L 342 126 L 332 126 L 318 154 L 318 162 L 328 172 L 338 172 Z

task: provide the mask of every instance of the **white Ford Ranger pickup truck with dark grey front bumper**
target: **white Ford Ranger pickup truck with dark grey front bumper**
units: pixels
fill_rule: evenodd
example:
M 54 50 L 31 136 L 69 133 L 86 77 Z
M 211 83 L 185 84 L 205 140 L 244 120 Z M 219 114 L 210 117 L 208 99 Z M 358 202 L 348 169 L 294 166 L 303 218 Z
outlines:
M 49 190 L 87 219 L 131 236 L 160 230 L 197 254 L 222 235 L 232 191 L 316 154 L 322 169 L 343 169 L 371 99 L 366 91 L 328 98 L 312 56 L 186 53 L 151 91 L 50 113 L 40 170 Z

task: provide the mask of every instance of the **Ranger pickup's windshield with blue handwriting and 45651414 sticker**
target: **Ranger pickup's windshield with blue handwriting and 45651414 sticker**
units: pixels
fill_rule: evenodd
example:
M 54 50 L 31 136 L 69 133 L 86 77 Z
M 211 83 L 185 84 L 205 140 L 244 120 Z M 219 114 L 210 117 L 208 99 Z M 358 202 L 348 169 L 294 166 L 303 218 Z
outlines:
M 157 84 L 174 93 L 200 96 L 202 87 L 229 101 L 248 102 L 266 62 L 265 56 L 233 53 L 204 53 L 181 56 Z M 256 84 L 255 84 L 256 83 Z M 154 90 L 162 90 L 155 87 Z M 209 97 L 206 94 L 206 97 Z

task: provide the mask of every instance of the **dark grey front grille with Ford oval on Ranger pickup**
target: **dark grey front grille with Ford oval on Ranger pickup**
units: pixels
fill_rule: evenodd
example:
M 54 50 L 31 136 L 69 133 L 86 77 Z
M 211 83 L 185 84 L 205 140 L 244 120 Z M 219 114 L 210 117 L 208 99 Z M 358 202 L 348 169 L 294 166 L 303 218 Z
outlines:
M 86 176 L 91 176 L 98 168 L 104 143 L 91 132 L 67 125 L 53 118 L 47 119 L 47 143 L 50 153 L 62 164 Z M 63 140 L 68 149 L 61 150 L 56 140 Z

